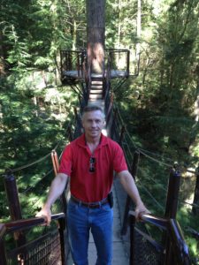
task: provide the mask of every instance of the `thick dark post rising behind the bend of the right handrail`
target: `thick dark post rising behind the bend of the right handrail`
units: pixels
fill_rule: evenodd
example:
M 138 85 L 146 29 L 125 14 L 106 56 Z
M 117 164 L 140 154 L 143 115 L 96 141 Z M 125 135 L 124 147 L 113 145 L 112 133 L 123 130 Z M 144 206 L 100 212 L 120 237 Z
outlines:
M 174 165 L 170 173 L 169 185 L 165 206 L 165 217 L 175 219 L 178 209 L 178 200 L 180 192 L 180 171 Z M 174 255 L 172 253 L 172 242 L 166 234 L 163 235 L 163 244 L 165 245 L 165 265 L 175 265 Z

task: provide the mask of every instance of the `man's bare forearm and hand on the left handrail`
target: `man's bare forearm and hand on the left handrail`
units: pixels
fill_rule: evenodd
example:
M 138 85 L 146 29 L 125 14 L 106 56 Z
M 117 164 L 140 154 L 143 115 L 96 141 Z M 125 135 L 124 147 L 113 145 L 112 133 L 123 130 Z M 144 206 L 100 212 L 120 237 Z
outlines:
M 57 198 L 64 192 L 65 184 L 68 176 L 64 173 L 58 173 L 56 178 L 53 179 L 50 185 L 50 192 L 47 201 L 42 207 L 42 210 L 36 216 L 45 216 L 47 218 L 47 223 L 50 224 L 51 221 L 51 206 L 57 200 Z

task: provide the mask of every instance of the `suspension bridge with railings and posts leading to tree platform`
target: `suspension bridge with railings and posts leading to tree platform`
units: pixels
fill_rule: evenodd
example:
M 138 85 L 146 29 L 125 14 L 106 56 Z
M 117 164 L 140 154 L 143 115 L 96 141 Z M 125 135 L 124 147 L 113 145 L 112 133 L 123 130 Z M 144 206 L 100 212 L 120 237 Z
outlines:
M 73 121 L 68 124 L 65 135 L 66 142 L 78 137 L 81 133 L 80 114 L 85 105 L 95 102 L 103 107 L 106 117 L 105 133 L 113 140 L 119 142 L 126 155 L 128 169 L 135 178 L 139 190 L 145 194 L 148 208 L 155 205 L 156 213 L 142 215 L 142 223 L 136 223 L 134 218 L 134 205 L 130 198 L 121 188 L 117 178 L 112 187 L 114 193 L 114 233 L 113 233 L 113 261 L 112 264 L 193 264 L 188 245 L 183 237 L 180 224 L 177 221 L 178 205 L 187 205 L 188 211 L 198 213 L 199 206 L 196 198 L 194 201 L 186 201 L 180 198 L 181 172 L 178 165 L 171 159 L 139 148 L 134 142 L 132 135 L 126 130 L 117 102 L 113 101 L 111 94 L 111 80 L 115 80 L 115 87 L 121 87 L 129 77 L 135 78 L 139 73 L 139 62 L 134 65 L 134 74 L 130 73 L 129 51 L 126 49 L 105 50 L 105 62 L 103 72 L 94 73 L 88 68 L 86 50 L 61 51 L 61 79 L 62 83 L 70 86 L 79 95 L 79 110 L 74 111 Z M 119 67 L 119 59 L 122 58 L 122 68 Z M 65 142 L 65 143 L 66 143 Z M 42 226 L 45 220 L 42 217 L 34 217 L 38 201 L 33 201 L 33 209 L 27 208 L 28 216 L 21 214 L 21 201 L 36 190 L 42 190 L 45 197 L 47 187 L 44 181 L 56 176 L 59 158 L 57 149 L 60 143 L 52 148 L 52 151 L 36 160 L 16 169 L 12 169 L 4 175 L 4 186 L 8 199 L 8 207 L 11 222 L 0 223 L 0 265 L 6 264 L 73 264 L 70 246 L 67 239 L 65 211 L 70 196 L 69 186 L 65 187 L 57 203 L 52 208 L 53 216 L 50 227 Z M 61 156 L 61 155 L 60 155 Z M 17 172 L 30 170 L 32 167 L 49 163 L 50 170 L 42 177 L 32 179 L 22 190 L 18 190 L 20 179 L 16 178 Z M 146 162 L 151 163 L 151 174 L 142 168 Z M 51 165 L 52 163 L 52 165 Z M 167 172 L 165 184 L 162 186 L 156 176 L 156 168 L 164 168 Z M 41 170 L 41 167 L 38 167 Z M 191 173 L 195 179 L 198 172 L 183 169 Z M 169 173 L 168 173 L 169 172 Z M 153 174 L 153 175 L 152 175 Z M 39 174 L 38 174 L 39 175 Z M 49 178 L 50 177 L 50 178 Z M 143 179 L 146 178 L 146 181 Z M 51 179 L 50 179 L 51 180 Z M 49 182 L 50 182 L 49 180 Z M 195 180 L 196 181 L 196 180 Z M 47 181 L 48 182 L 48 181 Z M 163 201 L 158 201 L 154 190 L 163 196 Z M 197 181 L 195 184 L 197 188 Z M 158 197 L 159 198 L 159 197 Z M 33 232 L 34 231 L 34 238 Z M 193 238 L 199 238 L 197 231 L 189 228 Z M 89 264 L 96 262 L 96 250 L 94 241 L 89 241 Z

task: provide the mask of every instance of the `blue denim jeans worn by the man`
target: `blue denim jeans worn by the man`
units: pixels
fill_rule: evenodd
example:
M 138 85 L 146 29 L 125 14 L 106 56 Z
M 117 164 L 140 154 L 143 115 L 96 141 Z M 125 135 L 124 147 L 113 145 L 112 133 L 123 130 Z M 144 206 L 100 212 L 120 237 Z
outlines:
M 113 211 L 108 203 L 87 208 L 69 201 L 67 223 L 75 265 L 88 265 L 88 240 L 91 230 L 96 244 L 96 265 L 111 265 Z

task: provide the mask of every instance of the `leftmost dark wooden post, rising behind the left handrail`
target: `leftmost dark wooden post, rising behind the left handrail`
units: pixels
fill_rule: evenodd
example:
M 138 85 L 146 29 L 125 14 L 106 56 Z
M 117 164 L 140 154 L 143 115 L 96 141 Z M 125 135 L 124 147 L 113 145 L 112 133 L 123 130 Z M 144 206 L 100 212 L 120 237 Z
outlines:
M 16 185 L 16 180 L 12 174 L 5 175 L 4 187 L 10 209 L 11 220 L 16 221 L 22 219 L 18 189 Z M 25 235 L 21 231 L 14 233 L 14 239 L 16 240 L 17 246 L 22 246 L 26 244 Z

